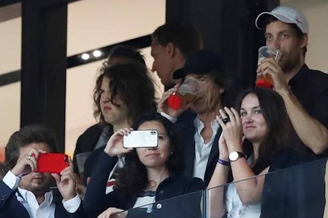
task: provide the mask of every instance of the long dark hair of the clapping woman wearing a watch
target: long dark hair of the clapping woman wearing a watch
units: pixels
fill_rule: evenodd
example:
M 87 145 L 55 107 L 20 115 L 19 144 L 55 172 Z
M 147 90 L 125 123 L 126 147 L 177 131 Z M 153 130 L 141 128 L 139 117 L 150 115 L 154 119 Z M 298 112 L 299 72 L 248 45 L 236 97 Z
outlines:
M 258 174 L 270 165 L 275 154 L 288 148 L 293 128 L 282 97 L 271 89 L 254 87 L 243 91 L 236 101 L 237 111 L 240 111 L 242 101 L 248 94 L 258 98 L 261 112 L 268 125 L 268 136 L 258 148 L 258 159 L 253 167 L 255 174 Z M 243 147 L 245 150 L 252 150 L 252 144 L 247 139 Z

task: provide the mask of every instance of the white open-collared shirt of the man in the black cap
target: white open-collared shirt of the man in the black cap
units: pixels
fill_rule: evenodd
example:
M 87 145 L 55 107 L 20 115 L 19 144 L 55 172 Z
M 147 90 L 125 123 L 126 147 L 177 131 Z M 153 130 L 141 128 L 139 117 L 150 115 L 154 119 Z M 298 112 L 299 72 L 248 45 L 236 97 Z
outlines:
M 194 136 L 195 159 L 193 176 L 204 180 L 208 158 L 210 156 L 212 145 L 220 125 L 216 119 L 211 122 L 211 128 L 213 133 L 210 141 L 208 141 L 207 143 L 204 142 L 204 138 L 200 134 L 201 131 L 204 129 L 204 123 L 198 117 L 196 117 L 196 119 L 194 120 L 194 125 L 196 128 L 196 132 Z

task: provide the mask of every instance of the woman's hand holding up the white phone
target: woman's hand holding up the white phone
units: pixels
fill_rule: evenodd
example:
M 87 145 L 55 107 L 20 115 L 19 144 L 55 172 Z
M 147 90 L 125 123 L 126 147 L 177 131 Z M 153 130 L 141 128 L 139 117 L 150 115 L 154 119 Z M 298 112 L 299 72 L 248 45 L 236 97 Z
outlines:
M 123 128 L 117 130 L 108 140 L 107 145 L 104 149 L 104 152 L 110 157 L 117 157 L 119 155 L 129 153 L 133 148 L 124 148 L 123 147 L 123 136 L 128 135 L 133 131 L 132 128 Z

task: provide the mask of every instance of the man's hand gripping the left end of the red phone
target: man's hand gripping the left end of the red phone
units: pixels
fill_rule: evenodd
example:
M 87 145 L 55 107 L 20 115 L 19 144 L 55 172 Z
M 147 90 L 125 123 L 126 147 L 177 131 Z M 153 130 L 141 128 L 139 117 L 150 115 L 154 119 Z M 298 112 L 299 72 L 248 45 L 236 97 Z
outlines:
M 45 154 L 45 151 L 36 150 L 32 148 L 26 155 L 18 159 L 16 165 L 10 170 L 15 176 L 27 175 L 32 171 L 37 170 L 36 160 L 39 158 L 39 154 Z

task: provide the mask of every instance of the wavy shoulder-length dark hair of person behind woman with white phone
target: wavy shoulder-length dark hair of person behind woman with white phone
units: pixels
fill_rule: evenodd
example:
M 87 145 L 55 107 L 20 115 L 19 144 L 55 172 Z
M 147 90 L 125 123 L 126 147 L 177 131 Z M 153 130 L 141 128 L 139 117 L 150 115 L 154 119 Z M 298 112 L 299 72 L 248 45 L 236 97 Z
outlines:
M 155 87 L 146 66 L 139 63 L 118 64 L 104 68 L 96 80 L 93 91 L 93 115 L 95 118 L 99 117 L 100 122 L 105 123 L 100 108 L 100 88 L 104 77 L 110 79 L 108 86 L 111 103 L 120 107 L 113 102 L 119 96 L 129 106 L 128 116 L 132 121 L 143 113 L 156 111 Z

